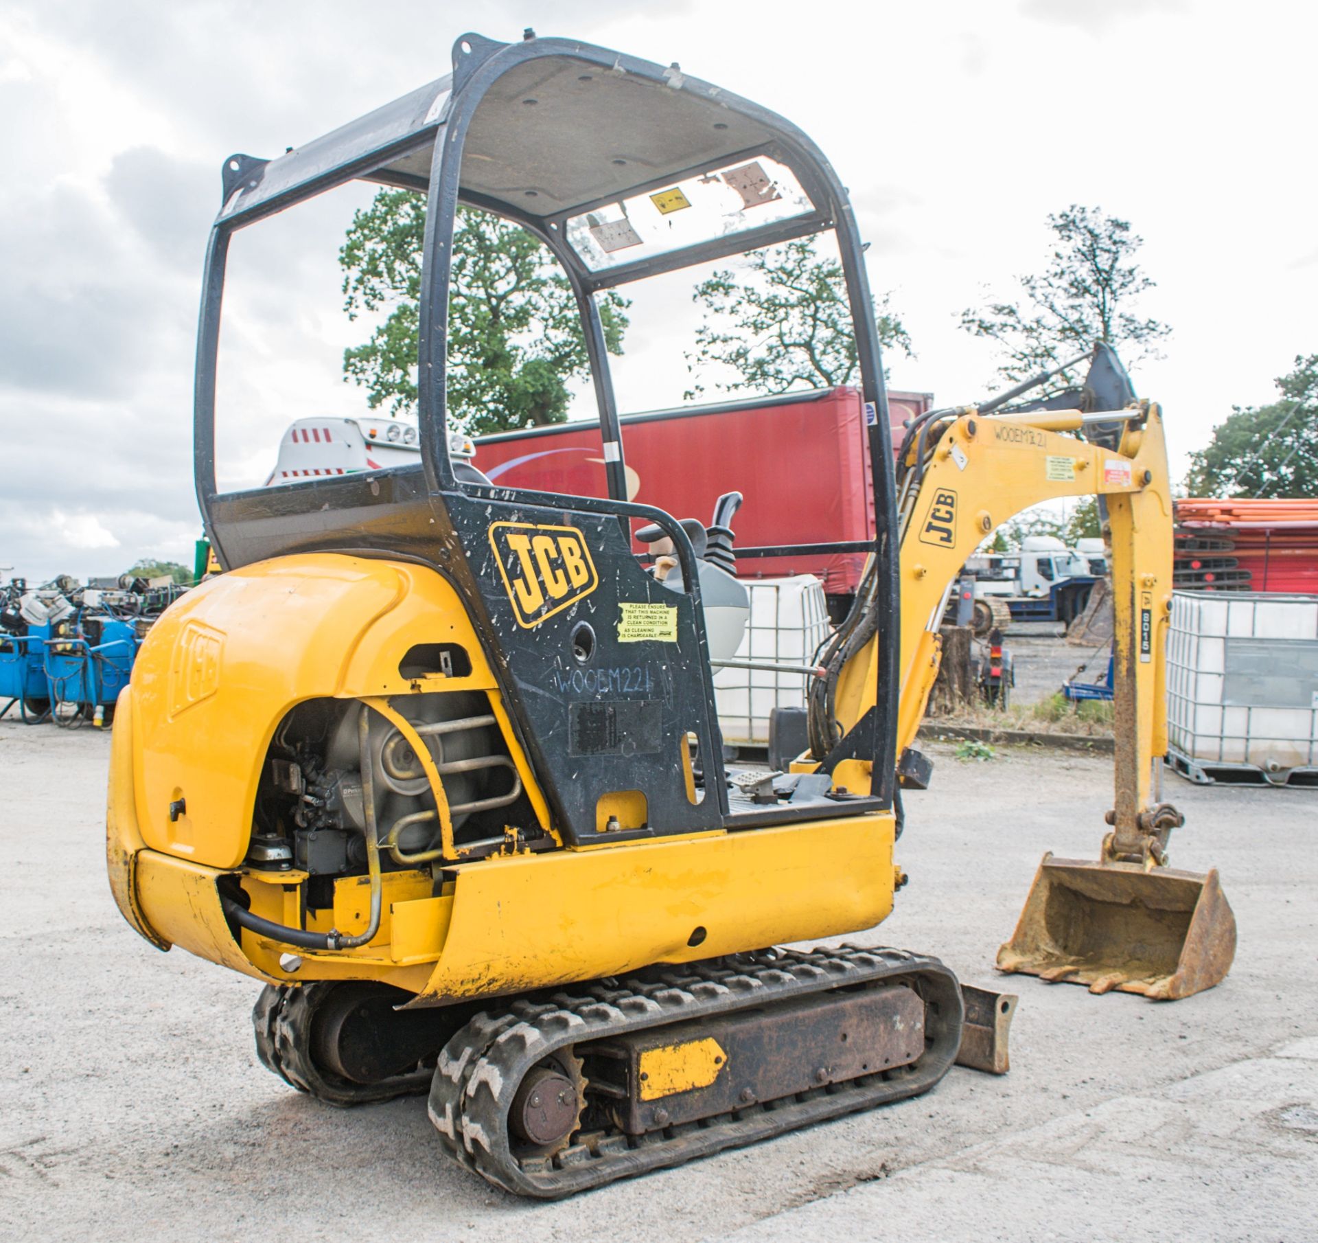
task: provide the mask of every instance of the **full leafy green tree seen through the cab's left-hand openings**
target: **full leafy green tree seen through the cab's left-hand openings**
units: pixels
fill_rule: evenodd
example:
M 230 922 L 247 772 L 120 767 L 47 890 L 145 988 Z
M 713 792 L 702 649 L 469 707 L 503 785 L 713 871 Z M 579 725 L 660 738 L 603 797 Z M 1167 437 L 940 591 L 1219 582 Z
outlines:
M 339 252 L 349 319 L 384 316 L 344 351 L 344 380 L 370 407 L 416 406 L 426 198 L 381 190 L 358 211 Z M 627 301 L 598 297 L 605 343 L 622 353 Z M 589 374 L 576 299 L 550 250 L 521 225 L 460 207 L 448 301 L 448 417 L 471 432 L 510 431 L 567 418 L 569 384 Z

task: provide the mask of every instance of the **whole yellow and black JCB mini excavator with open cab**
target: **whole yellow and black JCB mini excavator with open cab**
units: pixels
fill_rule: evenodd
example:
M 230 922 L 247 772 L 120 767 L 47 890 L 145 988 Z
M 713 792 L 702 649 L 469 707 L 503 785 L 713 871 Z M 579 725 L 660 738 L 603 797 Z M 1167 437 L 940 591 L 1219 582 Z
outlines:
M 427 195 L 422 463 L 220 492 L 229 241 L 352 179 Z M 455 464 L 460 203 L 561 262 L 609 498 Z M 871 555 L 818 658 L 811 750 L 788 774 L 728 772 L 706 610 L 735 612 L 735 502 L 706 530 L 626 500 L 594 295 L 821 232 L 874 411 L 876 530 L 836 548 Z M 1070 410 L 936 411 L 892 461 L 845 190 L 800 130 L 676 65 L 468 36 L 449 76 L 274 159 L 231 157 L 195 389 L 196 489 L 225 572 L 161 617 L 120 697 L 108 869 L 124 917 L 264 982 L 257 1049 L 290 1085 L 336 1105 L 428 1091 L 448 1152 L 525 1196 L 925 1091 L 966 1026 L 941 962 L 774 946 L 891 912 L 899 782 L 928 775 L 912 742 L 949 584 L 1025 505 L 1097 494 L 1118 627 L 1112 832 L 1097 862 L 1045 857 L 999 965 L 1155 998 L 1218 982 L 1230 908 L 1214 874 L 1165 867 L 1180 816 L 1156 800 L 1172 584 L 1159 409 L 1087 393 Z M 663 573 L 633 534 L 668 540 Z

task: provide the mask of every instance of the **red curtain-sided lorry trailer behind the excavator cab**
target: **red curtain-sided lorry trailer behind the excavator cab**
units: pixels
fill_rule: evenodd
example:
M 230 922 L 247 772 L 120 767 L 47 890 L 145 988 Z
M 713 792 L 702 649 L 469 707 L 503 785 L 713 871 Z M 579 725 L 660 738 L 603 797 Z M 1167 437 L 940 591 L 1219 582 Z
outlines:
M 631 500 L 709 522 L 714 501 L 739 492 L 738 550 L 867 540 L 874 490 L 863 405 L 859 389 L 837 388 L 623 415 Z M 888 393 L 894 446 L 903 422 L 932 405 L 932 393 Z M 782 452 L 787 444 L 791 453 Z M 608 496 L 597 423 L 480 436 L 476 465 L 505 488 Z M 863 552 L 743 558 L 737 572 L 817 575 L 836 608 L 854 593 L 863 564 Z

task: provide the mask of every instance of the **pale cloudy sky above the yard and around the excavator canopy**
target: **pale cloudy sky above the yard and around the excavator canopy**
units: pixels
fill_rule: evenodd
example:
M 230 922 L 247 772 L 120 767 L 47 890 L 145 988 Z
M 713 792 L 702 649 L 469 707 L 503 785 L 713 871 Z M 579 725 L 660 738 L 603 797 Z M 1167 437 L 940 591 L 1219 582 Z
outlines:
M 1174 335 L 1136 380 L 1166 407 L 1176 473 L 1232 403 L 1271 399 L 1294 355 L 1318 351 L 1307 5 L 0 0 L 0 567 L 41 580 L 191 560 L 192 345 L 220 161 L 440 76 L 469 28 L 526 25 L 679 61 L 809 132 L 915 340 L 916 359 L 891 360 L 895 388 L 983 391 L 994 359 L 957 312 L 1043 266 L 1045 217 L 1070 203 L 1145 239 L 1157 289 L 1141 308 Z M 327 401 L 360 401 L 330 374 L 353 339 L 336 318 L 343 219 L 327 208 L 253 243 L 256 269 L 290 256 L 290 303 L 322 293 L 328 311 L 283 314 L 269 286 L 229 307 L 233 357 L 252 361 L 221 389 L 233 409 L 260 393 L 293 411 L 324 360 Z M 618 377 L 633 410 L 680 394 L 691 328 L 671 290 L 635 298 Z M 221 465 L 273 465 L 278 430 L 269 447 L 221 442 Z

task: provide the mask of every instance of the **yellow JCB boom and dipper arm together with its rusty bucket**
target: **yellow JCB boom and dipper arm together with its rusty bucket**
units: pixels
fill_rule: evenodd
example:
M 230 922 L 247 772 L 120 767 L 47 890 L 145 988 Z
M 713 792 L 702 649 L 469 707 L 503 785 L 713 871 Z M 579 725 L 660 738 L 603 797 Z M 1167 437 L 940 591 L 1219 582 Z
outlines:
M 1066 432 L 1103 423 L 1116 448 Z M 902 649 L 898 747 L 915 741 L 938 672 L 948 592 L 981 542 L 1040 501 L 1101 496 L 1111 538 L 1115 796 L 1097 862 L 1045 854 L 1004 971 L 1119 989 L 1155 999 L 1189 997 L 1222 981 L 1235 954 L 1235 919 L 1217 871 L 1166 867 L 1182 823 L 1160 799 L 1166 751 L 1164 652 L 1172 614 L 1172 493 L 1161 410 L 1140 403 L 1106 414 L 975 410 L 934 420 L 903 463 Z M 932 447 L 931 447 L 932 446 Z M 845 730 L 875 703 L 874 639 L 841 670 L 834 691 Z M 899 754 L 900 754 L 899 751 Z M 850 774 L 847 774 L 850 776 Z M 854 778 L 853 778 L 854 780 Z

